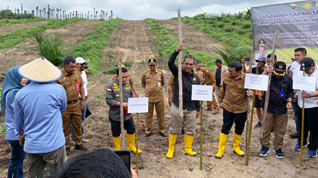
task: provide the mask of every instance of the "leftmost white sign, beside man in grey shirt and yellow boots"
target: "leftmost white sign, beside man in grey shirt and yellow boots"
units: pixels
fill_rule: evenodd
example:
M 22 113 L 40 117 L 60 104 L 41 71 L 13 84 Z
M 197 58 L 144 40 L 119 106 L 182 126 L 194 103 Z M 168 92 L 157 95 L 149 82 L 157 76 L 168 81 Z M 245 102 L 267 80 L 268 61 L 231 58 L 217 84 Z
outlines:
M 128 113 L 148 112 L 148 97 L 128 98 Z

